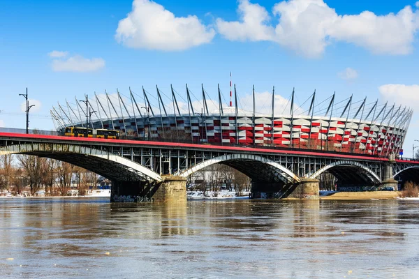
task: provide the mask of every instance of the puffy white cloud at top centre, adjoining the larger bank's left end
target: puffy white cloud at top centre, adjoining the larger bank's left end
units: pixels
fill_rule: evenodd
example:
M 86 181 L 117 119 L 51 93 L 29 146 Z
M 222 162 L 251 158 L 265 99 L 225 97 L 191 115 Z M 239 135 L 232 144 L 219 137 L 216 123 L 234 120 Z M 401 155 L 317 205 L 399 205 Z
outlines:
M 270 20 L 265 8 L 249 3 L 249 0 L 242 0 L 237 13 L 240 15 L 240 22 L 226 22 L 220 18 L 216 20 L 216 27 L 221 35 L 228 40 L 272 40 L 274 28 L 265 24 Z

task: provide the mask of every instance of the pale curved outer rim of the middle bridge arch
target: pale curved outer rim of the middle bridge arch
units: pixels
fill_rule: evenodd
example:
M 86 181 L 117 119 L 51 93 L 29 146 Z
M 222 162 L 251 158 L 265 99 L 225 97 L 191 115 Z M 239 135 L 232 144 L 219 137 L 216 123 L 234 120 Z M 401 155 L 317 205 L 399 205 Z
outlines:
M 255 161 L 258 163 L 263 163 L 271 167 L 274 167 L 274 169 L 276 169 L 277 172 L 279 172 L 281 176 L 283 176 L 286 179 L 286 182 L 292 182 L 292 183 L 300 182 L 300 178 L 298 178 L 298 176 L 293 174 L 293 172 L 291 172 L 289 169 L 287 169 L 283 165 L 280 165 L 279 163 L 275 163 L 272 160 L 268 160 L 267 158 L 263 158 L 257 155 L 250 155 L 250 154 L 226 154 L 223 156 L 212 158 L 210 160 L 205 160 L 203 163 L 194 165 L 190 169 L 187 169 L 185 172 L 178 172 L 175 175 L 179 175 L 186 178 L 190 176 L 191 174 L 193 174 L 194 172 L 197 172 L 198 170 L 208 167 L 210 165 L 232 161 L 232 160 L 247 160 L 247 161 Z

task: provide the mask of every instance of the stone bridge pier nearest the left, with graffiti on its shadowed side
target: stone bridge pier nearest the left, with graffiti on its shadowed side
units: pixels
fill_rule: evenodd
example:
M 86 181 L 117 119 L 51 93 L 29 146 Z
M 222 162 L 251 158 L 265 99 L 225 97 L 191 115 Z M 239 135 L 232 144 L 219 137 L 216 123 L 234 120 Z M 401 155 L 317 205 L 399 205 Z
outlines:
M 112 181 L 110 202 L 185 202 L 186 179 L 165 176 L 162 182 Z

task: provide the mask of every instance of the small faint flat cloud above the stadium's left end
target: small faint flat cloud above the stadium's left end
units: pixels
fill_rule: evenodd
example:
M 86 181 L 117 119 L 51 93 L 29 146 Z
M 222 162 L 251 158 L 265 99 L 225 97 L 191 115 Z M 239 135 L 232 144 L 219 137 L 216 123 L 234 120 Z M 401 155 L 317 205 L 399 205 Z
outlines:
M 80 55 L 66 59 L 53 59 L 52 70 L 55 72 L 93 72 L 105 67 L 105 60 L 101 58 L 87 59 Z

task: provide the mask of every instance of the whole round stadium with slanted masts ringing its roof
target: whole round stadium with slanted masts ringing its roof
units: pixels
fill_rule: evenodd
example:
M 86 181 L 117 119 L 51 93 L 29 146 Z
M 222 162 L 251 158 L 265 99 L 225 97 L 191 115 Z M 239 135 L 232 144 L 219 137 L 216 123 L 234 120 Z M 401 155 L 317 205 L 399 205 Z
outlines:
M 219 86 L 217 101 L 211 100 L 203 86 L 200 98 L 187 85 L 183 96 L 172 86 L 170 91 L 165 94 L 156 86 L 155 94 L 144 88 L 141 93 L 131 89 L 127 94 L 94 93 L 93 98 L 75 98 L 75 103 L 66 100 L 65 105 L 52 107 L 50 113 L 61 132 L 70 126 L 88 126 L 92 130 L 117 130 L 121 138 L 135 140 L 274 146 L 375 156 L 399 154 L 413 114 L 407 107 L 379 104 L 378 100 L 369 103 L 367 98 L 356 101 L 352 96 L 337 100 L 336 93 L 317 100 L 316 91 L 300 105 L 295 101 L 295 91 L 285 99 L 275 95 L 273 89 L 263 96 L 263 102 L 268 103 L 265 107 L 258 104 L 260 94 L 255 93 L 254 86 L 241 99 L 244 106 L 240 100 L 237 103 L 236 86 L 232 90 L 231 84 L 229 101 L 223 99 Z

